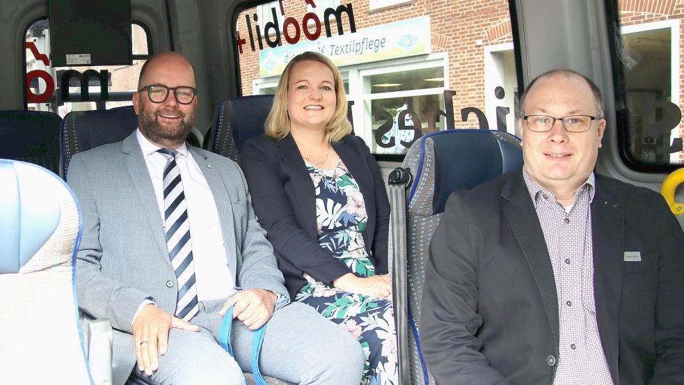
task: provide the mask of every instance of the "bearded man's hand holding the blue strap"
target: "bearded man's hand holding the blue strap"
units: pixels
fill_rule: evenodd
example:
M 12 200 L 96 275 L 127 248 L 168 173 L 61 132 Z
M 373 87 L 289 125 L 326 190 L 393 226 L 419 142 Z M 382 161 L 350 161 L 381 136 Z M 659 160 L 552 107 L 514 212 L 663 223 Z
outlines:
M 241 320 L 250 330 L 262 327 L 273 315 L 273 306 L 276 304 L 276 294 L 271 290 L 250 289 L 238 292 L 230 297 L 218 313 L 225 315 L 230 305 L 235 304 L 232 317 Z

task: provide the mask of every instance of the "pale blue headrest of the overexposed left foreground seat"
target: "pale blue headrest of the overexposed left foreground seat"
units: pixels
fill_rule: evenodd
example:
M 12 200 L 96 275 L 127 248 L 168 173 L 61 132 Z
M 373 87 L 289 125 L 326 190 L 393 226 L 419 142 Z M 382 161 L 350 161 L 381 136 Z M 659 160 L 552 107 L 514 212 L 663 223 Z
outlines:
M 45 168 L 0 159 L 0 274 L 19 272 L 55 232 L 60 203 L 50 191 L 67 188 Z

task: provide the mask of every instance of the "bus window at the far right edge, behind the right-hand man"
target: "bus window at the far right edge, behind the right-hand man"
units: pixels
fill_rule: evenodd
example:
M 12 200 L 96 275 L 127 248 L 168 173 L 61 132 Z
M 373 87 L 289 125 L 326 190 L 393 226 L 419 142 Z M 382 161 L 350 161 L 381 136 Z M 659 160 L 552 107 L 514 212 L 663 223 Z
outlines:
M 680 22 L 675 1 L 620 1 L 618 57 L 624 73 L 616 102 L 626 106 L 622 155 L 639 171 L 684 164 L 680 94 L 684 87 Z

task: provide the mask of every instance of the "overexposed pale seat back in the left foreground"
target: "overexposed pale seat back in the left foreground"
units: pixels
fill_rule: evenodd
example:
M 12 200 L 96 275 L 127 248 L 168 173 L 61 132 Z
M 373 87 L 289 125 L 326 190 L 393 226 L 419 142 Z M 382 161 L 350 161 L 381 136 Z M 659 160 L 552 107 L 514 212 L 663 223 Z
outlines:
M 24 162 L 0 159 L 0 186 L 0 383 L 92 384 L 74 286 L 76 198 Z

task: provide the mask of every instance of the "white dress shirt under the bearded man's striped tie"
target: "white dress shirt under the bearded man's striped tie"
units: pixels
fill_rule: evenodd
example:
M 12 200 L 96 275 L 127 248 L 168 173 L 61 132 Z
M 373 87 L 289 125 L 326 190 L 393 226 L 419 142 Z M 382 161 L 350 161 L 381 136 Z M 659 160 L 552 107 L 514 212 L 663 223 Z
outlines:
M 164 181 L 162 175 L 166 167 L 165 155 L 157 152 L 159 146 L 148 141 L 136 130 L 138 143 L 143 150 L 145 164 L 148 166 L 154 195 L 159 205 L 161 223 L 164 223 Z M 197 287 L 197 299 L 221 299 L 229 297 L 235 289 L 234 277 L 228 268 L 228 258 L 223 246 L 221 223 L 214 195 L 202 174 L 202 168 L 195 162 L 185 143 L 177 150 L 176 164 L 183 182 L 185 201 L 188 207 L 190 239 L 192 242 L 193 264 Z

